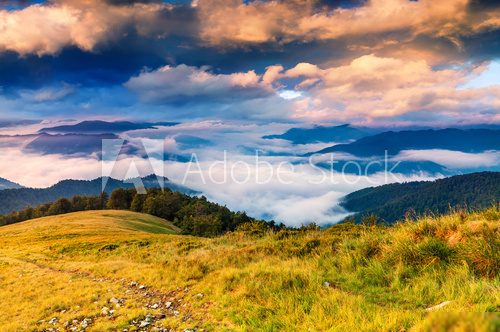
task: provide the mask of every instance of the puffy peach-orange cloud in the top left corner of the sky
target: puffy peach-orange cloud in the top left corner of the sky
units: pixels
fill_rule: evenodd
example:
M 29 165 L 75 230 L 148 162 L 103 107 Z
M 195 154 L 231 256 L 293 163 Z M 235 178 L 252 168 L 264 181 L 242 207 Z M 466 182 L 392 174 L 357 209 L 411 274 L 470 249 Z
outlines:
M 0 50 L 39 56 L 69 46 L 93 51 L 99 44 L 122 38 L 128 29 L 158 38 L 186 34 L 191 28 L 189 20 L 183 20 L 190 15 L 185 7 L 168 4 L 112 5 L 100 0 L 54 1 L 0 10 Z

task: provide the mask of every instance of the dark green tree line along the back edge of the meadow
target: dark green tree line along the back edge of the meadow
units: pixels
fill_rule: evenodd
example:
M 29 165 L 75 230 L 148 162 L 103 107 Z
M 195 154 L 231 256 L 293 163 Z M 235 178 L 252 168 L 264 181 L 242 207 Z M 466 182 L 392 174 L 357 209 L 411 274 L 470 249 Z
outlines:
M 13 224 L 29 219 L 87 210 L 130 210 L 142 212 L 171 221 L 183 234 L 217 236 L 234 231 L 242 224 L 258 222 L 269 228 L 284 228 L 274 221 L 256 220 L 244 212 L 233 212 L 227 207 L 209 202 L 206 197 L 192 197 L 169 189 L 148 189 L 139 194 L 135 189 L 115 189 L 111 195 L 74 196 L 60 198 L 53 203 L 28 207 L 0 216 L 0 225 Z

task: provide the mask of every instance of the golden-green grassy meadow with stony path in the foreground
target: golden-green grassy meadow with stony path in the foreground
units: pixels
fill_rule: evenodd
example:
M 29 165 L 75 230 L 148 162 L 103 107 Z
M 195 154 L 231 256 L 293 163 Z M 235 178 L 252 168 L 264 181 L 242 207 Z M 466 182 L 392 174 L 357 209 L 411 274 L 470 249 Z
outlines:
M 499 220 L 491 208 L 393 227 L 255 223 L 216 238 L 128 211 L 29 220 L 0 227 L 0 326 L 498 331 Z

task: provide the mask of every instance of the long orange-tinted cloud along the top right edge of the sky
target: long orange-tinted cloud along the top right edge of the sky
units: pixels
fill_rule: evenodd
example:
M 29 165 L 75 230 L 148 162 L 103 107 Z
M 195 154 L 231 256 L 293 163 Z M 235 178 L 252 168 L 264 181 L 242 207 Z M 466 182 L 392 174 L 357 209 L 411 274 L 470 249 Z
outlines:
M 461 35 L 500 26 L 498 9 L 471 11 L 468 0 L 369 0 L 333 9 L 317 3 L 200 0 L 201 37 L 212 45 L 237 45 L 406 32 L 412 38 L 427 34 L 459 44 Z

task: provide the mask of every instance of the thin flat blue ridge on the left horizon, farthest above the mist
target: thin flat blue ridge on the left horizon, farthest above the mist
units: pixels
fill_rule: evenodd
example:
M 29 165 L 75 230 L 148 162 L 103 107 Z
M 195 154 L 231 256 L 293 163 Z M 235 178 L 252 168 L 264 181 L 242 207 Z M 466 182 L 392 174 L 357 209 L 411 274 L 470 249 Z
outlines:
M 82 121 L 73 125 L 64 125 L 56 127 L 47 127 L 39 130 L 40 133 L 64 133 L 64 134 L 79 134 L 79 133 L 93 133 L 93 134 L 116 134 L 130 130 L 138 129 L 154 129 L 156 126 L 175 126 L 178 122 L 130 122 L 130 121 Z

